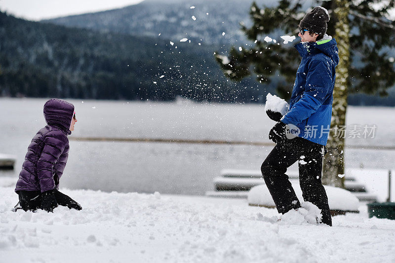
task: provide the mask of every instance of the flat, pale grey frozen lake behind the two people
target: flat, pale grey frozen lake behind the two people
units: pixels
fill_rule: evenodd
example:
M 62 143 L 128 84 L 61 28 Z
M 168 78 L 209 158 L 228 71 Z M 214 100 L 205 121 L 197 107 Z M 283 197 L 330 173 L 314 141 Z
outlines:
M 46 99 L 0 98 L 0 152 L 17 157 L 18 177 L 27 147 L 45 125 Z M 275 124 L 263 105 L 81 101 L 70 138 L 163 138 L 270 142 Z M 376 125 L 374 138 L 347 138 L 348 146 L 394 147 L 395 108 L 349 107 L 347 125 Z M 256 169 L 273 146 L 87 142 L 70 140 L 70 156 L 61 187 L 103 191 L 204 194 L 221 169 Z M 346 149 L 346 166 L 394 168 L 395 150 Z M 296 170 L 297 167 L 290 168 Z

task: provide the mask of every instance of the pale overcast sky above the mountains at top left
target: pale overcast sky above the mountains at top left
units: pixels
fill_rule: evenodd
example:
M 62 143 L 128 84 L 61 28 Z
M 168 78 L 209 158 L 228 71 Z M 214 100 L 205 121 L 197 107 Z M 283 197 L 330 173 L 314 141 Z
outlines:
M 28 20 L 41 20 L 120 8 L 143 0 L 0 0 L 0 10 Z

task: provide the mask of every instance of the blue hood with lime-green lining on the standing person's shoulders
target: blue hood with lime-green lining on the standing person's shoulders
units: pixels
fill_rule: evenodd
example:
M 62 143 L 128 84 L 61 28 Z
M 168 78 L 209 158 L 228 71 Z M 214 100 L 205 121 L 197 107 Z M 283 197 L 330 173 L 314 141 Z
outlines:
M 327 35 L 326 38 L 324 36 L 323 39 L 317 42 L 300 42 L 295 45 L 295 48 L 298 50 L 302 58 L 307 55 L 323 53 L 333 61 L 335 66 L 339 64 L 339 50 L 337 49 L 337 42 L 335 38 L 331 38 Z

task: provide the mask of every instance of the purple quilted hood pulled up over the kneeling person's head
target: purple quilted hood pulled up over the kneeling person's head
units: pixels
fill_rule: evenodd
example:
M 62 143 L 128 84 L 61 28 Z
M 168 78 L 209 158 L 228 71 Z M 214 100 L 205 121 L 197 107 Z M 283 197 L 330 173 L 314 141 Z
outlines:
M 44 104 L 44 117 L 48 125 L 56 126 L 71 134 L 70 125 L 74 116 L 74 105 L 59 99 L 50 99 Z

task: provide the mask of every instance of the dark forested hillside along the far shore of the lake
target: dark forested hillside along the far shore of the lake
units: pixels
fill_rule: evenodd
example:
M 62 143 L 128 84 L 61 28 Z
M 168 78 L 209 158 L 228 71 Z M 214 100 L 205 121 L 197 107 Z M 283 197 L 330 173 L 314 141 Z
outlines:
M 163 101 L 184 96 L 218 102 L 262 97 L 262 89 L 251 89 L 251 79 L 227 80 L 212 55 L 211 47 L 188 42 L 171 45 L 0 13 L 2 96 Z

